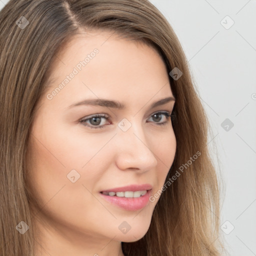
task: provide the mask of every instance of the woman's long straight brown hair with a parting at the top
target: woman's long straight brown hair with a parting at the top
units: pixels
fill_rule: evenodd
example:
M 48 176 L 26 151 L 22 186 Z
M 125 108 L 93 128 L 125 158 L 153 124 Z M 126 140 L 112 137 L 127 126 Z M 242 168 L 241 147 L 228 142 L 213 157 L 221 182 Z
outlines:
M 172 182 L 162 191 L 146 234 L 122 242 L 123 253 L 220 255 L 219 185 L 207 148 L 208 121 L 173 29 L 147 0 L 10 0 L 0 11 L 1 255 L 34 255 L 25 161 L 29 128 L 61 45 L 98 28 L 154 47 L 168 73 L 174 67 L 182 72 L 178 79 L 169 76 L 177 147 L 165 183 Z M 15 228 L 21 220 L 29 226 L 23 235 Z

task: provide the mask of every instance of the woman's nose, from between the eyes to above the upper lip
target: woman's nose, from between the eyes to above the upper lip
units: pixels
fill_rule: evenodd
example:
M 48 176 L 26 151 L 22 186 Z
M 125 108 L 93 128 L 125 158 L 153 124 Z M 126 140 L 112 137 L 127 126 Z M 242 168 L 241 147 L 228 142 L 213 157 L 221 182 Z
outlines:
M 116 165 L 119 169 L 131 168 L 144 172 L 157 165 L 153 148 L 150 148 L 157 142 L 148 143 L 139 125 L 132 124 L 126 131 L 119 129 L 115 138 Z

